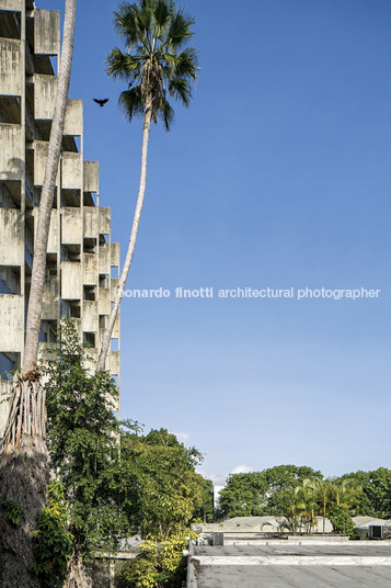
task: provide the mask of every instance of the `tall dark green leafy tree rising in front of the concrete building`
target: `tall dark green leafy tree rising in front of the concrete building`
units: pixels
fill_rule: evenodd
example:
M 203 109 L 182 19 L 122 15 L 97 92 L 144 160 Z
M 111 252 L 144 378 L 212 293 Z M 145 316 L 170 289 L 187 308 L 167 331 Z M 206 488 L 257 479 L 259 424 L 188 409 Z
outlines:
M 117 391 L 106 372 L 89 374 L 71 319 L 62 320 L 51 353 L 43 369 L 51 467 L 65 486 L 74 550 L 89 558 L 97 547 L 115 550 L 127 529 L 120 508 Z

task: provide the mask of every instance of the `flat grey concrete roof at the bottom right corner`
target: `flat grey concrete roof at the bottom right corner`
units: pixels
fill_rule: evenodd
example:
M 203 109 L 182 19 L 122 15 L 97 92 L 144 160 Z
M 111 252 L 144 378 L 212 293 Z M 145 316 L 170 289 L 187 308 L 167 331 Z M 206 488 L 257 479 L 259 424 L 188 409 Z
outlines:
M 193 546 L 187 588 L 389 588 L 391 543 Z

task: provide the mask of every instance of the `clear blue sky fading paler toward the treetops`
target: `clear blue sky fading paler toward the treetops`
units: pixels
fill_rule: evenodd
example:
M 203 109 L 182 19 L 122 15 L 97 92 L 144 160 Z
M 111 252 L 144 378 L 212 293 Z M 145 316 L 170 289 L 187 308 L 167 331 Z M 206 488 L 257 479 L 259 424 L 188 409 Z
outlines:
M 141 123 L 105 75 L 117 2 L 91 4 L 79 1 L 70 97 L 84 101 L 84 158 L 100 161 L 124 258 Z M 183 433 L 215 480 L 287 463 L 391 467 L 391 3 L 183 5 L 202 70 L 191 109 L 151 131 L 128 281 L 171 297 L 123 302 L 122 416 Z M 215 295 L 179 299 L 181 286 Z M 218 297 L 238 287 L 295 297 Z M 306 287 L 380 292 L 297 299 Z

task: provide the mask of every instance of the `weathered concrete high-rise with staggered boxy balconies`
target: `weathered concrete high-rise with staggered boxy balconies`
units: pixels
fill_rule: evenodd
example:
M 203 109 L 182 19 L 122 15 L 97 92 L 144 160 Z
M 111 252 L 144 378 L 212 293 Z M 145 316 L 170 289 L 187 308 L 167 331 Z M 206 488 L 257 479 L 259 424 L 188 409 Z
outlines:
M 0 0 L 0 393 L 21 366 L 35 226 L 54 113 L 60 14 Z M 83 160 L 83 103 L 68 100 L 47 252 L 41 353 L 61 316 L 97 352 L 117 285 L 119 245 L 100 206 L 96 161 Z M 114 275 L 114 276 L 113 276 Z M 119 375 L 119 318 L 106 369 Z M 0 404 L 0 437 L 7 405 Z

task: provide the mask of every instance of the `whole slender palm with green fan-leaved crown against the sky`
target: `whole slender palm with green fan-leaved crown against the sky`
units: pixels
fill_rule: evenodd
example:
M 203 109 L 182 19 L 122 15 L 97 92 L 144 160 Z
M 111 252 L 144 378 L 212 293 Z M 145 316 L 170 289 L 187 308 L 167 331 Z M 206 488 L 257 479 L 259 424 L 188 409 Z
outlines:
M 194 20 L 176 10 L 171 0 L 138 0 L 124 2 L 114 13 L 114 23 L 124 39 L 126 52 L 118 47 L 107 57 L 107 74 L 128 83 L 119 97 L 119 105 L 126 117 L 143 117 L 141 171 L 131 226 L 128 250 L 119 278 L 118 289 L 105 329 L 97 370 L 104 370 L 111 337 L 119 309 L 124 287 L 129 273 L 137 231 L 140 222 L 147 178 L 147 154 L 151 122 L 162 118 L 166 131 L 174 118 L 170 99 L 179 100 L 185 106 L 192 100 L 192 83 L 198 70 L 197 53 L 185 47 L 192 36 Z

